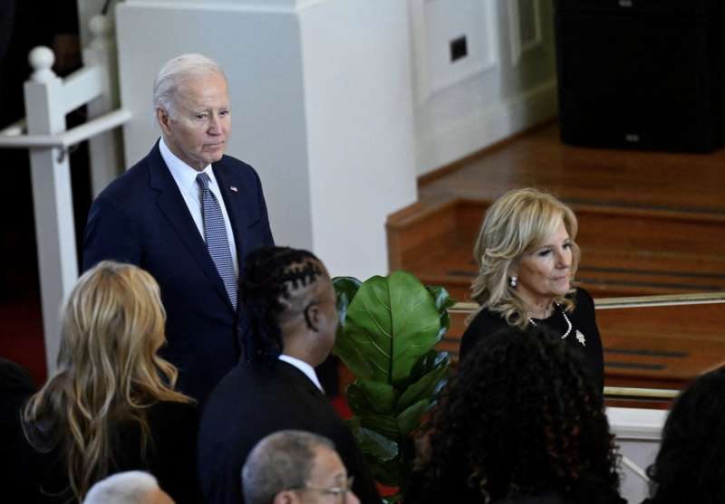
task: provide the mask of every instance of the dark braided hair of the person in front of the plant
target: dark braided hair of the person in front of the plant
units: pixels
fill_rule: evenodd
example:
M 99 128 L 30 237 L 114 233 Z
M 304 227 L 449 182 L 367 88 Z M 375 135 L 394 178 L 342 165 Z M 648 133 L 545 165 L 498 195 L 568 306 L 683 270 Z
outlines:
M 247 361 L 274 360 L 284 352 L 280 326 L 304 313 L 321 276 L 327 273 L 312 252 L 264 247 L 247 255 L 240 289 L 250 322 Z

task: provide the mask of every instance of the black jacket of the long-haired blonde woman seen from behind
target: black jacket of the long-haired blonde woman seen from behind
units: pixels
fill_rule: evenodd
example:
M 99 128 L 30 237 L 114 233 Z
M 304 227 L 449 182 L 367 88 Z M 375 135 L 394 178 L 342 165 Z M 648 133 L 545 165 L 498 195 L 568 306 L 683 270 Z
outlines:
M 113 462 L 109 474 L 121 471 L 149 471 L 161 489 L 177 504 L 197 504 L 200 499 L 196 467 L 198 412 L 193 404 L 157 403 L 148 410 L 150 442 L 141 457 L 140 426 L 124 422 L 111 426 Z M 70 437 L 63 434 L 63 438 Z M 23 436 L 14 443 L 9 502 L 66 504 L 76 502 L 68 481 L 62 446 L 39 452 Z

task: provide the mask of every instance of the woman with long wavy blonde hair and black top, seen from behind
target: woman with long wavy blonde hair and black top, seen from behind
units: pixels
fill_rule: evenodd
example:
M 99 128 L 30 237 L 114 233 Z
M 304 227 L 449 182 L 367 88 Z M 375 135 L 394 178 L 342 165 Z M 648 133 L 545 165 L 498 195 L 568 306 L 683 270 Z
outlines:
M 79 502 L 131 470 L 152 473 L 178 504 L 198 501 L 198 413 L 157 355 L 165 318 L 146 271 L 104 261 L 82 275 L 63 306 L 58 371 L 24 407 L 18 501 Z

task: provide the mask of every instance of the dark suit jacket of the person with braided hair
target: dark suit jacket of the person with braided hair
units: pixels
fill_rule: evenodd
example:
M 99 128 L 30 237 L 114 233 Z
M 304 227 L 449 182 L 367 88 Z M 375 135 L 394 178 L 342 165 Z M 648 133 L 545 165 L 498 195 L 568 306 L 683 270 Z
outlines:
M 296 429 L 334 442 L 363 503 L 380 504 L 370 473 L 333 405 L 302 371 L 284 361 L 240 364 L 209 396 L 198 436 L 204 502 L 240 504 L 247 455 L 267 434 Z

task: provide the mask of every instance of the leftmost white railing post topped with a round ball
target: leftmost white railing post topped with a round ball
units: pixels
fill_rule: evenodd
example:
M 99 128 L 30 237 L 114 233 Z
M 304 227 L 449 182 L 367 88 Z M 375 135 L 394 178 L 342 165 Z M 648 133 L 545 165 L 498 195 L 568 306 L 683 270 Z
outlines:
M 28 133 L 61 133 L 65 130 L 65 112 L 61 103 L 63 81 L 51 70 L 53 52 L 47 47 L 36 47 L 30 52 L 29 60 L 34 73 L 24 85 Z M 78 278 L 73 191 L 68 156 L 58 148 L 30 149 L 30 170 L 45 359 L 48 376 L 51 376 L 55 371 L 61 335 L 59 309 Z

